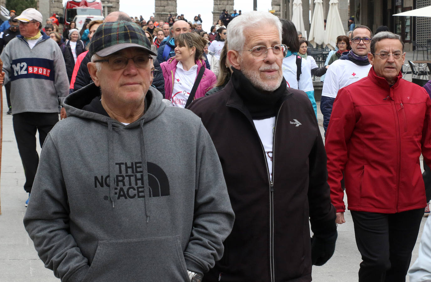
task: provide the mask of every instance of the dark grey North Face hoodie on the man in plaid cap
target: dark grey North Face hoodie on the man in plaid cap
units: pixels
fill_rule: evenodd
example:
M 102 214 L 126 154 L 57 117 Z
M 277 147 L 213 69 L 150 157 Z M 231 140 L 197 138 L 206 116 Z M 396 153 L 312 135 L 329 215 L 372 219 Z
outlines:
M 24 225 L 62 281 L 190 281 L 223 254 L 234 213 L 211 138 L 189 110 L 150 88 L 123 125 L 82 110 L 94 84 L 64 101 L 45 140 Z

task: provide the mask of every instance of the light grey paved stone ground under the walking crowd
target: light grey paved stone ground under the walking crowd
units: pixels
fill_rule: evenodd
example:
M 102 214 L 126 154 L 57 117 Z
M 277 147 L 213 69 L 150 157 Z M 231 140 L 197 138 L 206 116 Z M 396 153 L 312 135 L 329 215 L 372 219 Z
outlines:
M 411 54 L 407 55 L 411 60 Z M 411 80 L 411 75 L 406 79 Z M 3 88 L 3 93 L 5 93 Z M 0 179 L 0 282 L 51 282 L 59 281 L 34 250 L 33 242 L 25 232 L 22 218 L 27 193 L 21 160 L 12 129 L 12 116 L 6 115 L 6 97 L 3 95 L 3 152 Z M 318 109 L 319 109 L 318 103 Z M 319 125 L 323 116 L 318 110 Z M 323 128 L 321 127 L 322 135 Z M 40 148 L 39 148 L 40 150 Z M 323 266 L 313 267 L 313 281 L 353 282 L 358 280 L 359 263 L 362 261 L 356 248 L 350 212 L 345 213 L 346 223 L 338 226 L 338 239 L 334 256 Z M 418 240 L 412 253 L 412 263 L 418 255 L 419 241 L 425 218 L 422 219 Z M 408 277 L 407 280 L 409 281 Z

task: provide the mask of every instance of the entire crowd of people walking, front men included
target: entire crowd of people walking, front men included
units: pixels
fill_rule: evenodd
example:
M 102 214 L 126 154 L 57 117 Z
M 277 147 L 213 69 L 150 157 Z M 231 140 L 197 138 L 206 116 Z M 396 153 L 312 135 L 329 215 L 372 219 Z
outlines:
M 116 11 L 62 33 L 42 22 L 11 11 L 0 83 L 25 229 L 56 277 L 311 281 L 334 254 L 344 193 L 360 282 L 431 277 L 429 234 L 409 270 L 431 200 L 419 164 L 431 164 L 431 86 L 402 78 L 399 35 L 355 25 L 319 67 L 268 12 L 224 10 L 209 33 L 200 15 Z M 325 142 L 313 75 L 325 75 Z

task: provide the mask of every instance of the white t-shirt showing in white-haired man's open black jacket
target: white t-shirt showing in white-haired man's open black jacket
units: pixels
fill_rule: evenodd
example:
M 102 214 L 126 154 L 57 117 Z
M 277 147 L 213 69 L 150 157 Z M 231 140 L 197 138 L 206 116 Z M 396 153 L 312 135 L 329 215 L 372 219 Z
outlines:
M 274 144 L 275 116 L 268 119 L 253 119 L 253 122 L 265 150 L 266 164 L 272 180 L 272 145 Z

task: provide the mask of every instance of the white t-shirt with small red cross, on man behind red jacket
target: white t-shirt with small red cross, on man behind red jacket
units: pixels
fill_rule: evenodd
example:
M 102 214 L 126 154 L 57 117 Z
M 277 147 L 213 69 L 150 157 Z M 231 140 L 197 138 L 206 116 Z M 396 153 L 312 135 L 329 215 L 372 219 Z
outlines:
M 371 65 L 358 66 L 350 60 L 334 61 L 326 71 L 322 96 L 337 97 L 338 90 L 364 78 L 370 69 Z

